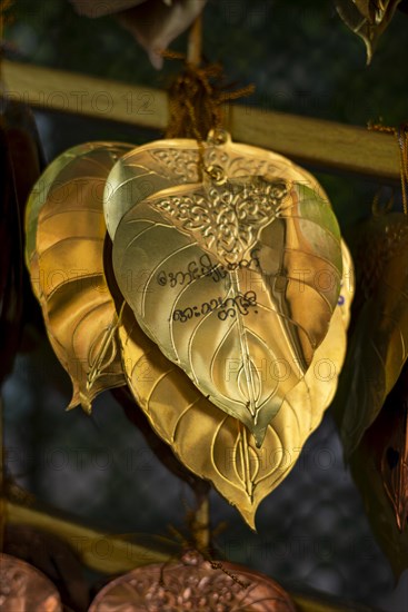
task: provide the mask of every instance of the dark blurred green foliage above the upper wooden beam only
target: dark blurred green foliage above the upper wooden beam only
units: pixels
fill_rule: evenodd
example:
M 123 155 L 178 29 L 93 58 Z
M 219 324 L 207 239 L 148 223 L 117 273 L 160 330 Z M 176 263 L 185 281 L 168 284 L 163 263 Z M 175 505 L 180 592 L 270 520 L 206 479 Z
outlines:
M 6 31 L 28 61 L 66 70 L 163 86 L 178 62 L 162 72 L 112 17 L 79 17 L 68 0 L 16 0 Z M 331 1 L 210 0 L 205 10 L 203 52 L 221 60 L 231 80 L 255 82 L 251 103 L 348 124 L 384 117 L 407 119 L 408 63 L 401 11 L 381 38 L 372 65 L 365 47 L 341 22 Z M 173 45 L 186 49 L 186 34 Z

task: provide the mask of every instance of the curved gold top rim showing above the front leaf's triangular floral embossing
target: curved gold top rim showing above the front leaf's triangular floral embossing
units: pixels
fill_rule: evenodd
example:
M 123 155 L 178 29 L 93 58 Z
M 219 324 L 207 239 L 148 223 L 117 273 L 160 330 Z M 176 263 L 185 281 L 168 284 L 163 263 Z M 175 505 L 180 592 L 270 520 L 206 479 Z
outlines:
M 225 149 L 228 158 L 223 155 Z M 121 218 L 139 201 L 169 187 L 197 184 L 200 179 L 199 157 L 197 141 L 188 138 L 156 140 L 123 155 L 109 174 L 103 198 L 111 239 L 115 238 Z M 221 164 L 230 177 L 288 176 L 291 180 L 309 185 L 322 199 L 328 200 L 310 172 L 272 151 L 235 144 L 227 138 L 227 147 L 207 147 L 206 162 L 208 166 Z

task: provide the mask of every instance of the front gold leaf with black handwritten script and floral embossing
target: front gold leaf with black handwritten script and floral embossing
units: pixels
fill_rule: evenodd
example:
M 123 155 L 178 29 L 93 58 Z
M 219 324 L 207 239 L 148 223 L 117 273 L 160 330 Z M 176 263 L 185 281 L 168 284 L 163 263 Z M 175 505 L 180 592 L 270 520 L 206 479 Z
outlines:
M 202 156 L 159 141 L 113 168 L 113 269 L 141 329 L 260 446 L 328 332 L 340 234 L 289 160 L 213 135 Z

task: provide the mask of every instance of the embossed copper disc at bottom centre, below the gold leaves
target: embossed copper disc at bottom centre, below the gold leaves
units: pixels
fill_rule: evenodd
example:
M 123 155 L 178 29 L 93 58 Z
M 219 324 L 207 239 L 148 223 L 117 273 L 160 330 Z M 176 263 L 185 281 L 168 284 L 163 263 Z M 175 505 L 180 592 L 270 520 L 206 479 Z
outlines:
M 138 567 L 105 586 L 89 612 L 295 612 L 271 579 L 227 562 L 213 569 L 196 552 L 181 561 Z

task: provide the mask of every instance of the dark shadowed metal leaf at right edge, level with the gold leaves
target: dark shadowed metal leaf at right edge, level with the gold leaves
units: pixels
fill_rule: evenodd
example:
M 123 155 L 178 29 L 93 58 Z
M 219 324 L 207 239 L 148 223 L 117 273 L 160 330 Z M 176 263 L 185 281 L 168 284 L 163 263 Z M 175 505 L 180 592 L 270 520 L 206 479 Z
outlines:
M 355 323 L 336 397 L 348 457 L 376 419 L 408 357 L 407 216 L 374 217 L 356 233 L 360 239 Z

